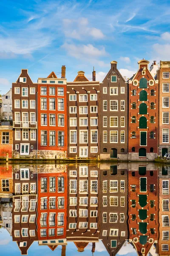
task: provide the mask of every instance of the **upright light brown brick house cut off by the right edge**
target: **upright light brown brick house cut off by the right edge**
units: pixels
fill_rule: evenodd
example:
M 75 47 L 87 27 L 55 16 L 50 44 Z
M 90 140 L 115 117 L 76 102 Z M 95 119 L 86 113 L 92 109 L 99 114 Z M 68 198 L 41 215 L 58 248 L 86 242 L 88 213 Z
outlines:
M 170 61 L 160 61 L 159 79 L 159 155 L 170 154 Z

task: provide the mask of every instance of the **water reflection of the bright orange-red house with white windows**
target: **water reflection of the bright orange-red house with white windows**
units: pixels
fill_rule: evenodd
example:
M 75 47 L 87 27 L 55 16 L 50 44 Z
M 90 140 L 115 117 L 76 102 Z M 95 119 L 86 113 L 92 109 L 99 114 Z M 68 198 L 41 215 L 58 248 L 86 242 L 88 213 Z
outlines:
M 37 232 L 39 245 L 54 250 L 66 246 L 67 173 L 65 166 L 47 166 L 38 171 Z

